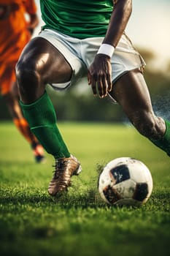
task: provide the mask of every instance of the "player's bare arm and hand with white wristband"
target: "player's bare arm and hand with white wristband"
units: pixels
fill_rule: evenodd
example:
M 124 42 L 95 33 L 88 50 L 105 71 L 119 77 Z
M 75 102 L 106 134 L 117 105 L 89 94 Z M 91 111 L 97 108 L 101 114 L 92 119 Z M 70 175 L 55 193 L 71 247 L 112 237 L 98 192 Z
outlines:
M 91 85 L 94 95 L 97 94 L 98 90 L 99 97 L 107 96 L 107 92 L 112 90 L 110 59 L 125 30 L 132 10 L 131 0 L 116 0 L 113 1 L 113 4 L 114 10 L 110 18 L 107 34 L 88 70 L 88 84 Z

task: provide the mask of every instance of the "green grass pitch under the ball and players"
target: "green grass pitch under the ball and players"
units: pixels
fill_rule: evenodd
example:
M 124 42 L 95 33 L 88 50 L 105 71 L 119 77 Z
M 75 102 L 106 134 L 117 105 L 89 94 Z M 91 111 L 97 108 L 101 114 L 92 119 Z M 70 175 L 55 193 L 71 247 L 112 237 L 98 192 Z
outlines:
M 170 159 L 133 127 L 59 123 L 82 163 L 60 198 L 47 194 L 53 157 L 34 163 L 12 123 L 0 124 L 0 254 L 165 256 L 170 253 Z M 98 195 L 98 165 L 134 157 L 149 167 L 153 191 L 140 208 L 107 206 Z

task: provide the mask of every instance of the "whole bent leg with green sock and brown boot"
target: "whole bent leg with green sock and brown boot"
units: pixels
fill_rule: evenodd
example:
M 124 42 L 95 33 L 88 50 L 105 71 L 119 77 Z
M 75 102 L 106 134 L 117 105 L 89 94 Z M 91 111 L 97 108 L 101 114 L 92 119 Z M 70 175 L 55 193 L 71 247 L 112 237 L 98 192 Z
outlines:
M 72 68 L 63 55 L 42 38 L 32 39 L 16 67 L 20 105 L 31 131 L 49 154 L 55 157 L 55 173 L 48 192 L 55 195 L 65 190 L 70 177 L 80 172 L 80 162 L 69 153 L 56 125 L 53 104 L 45 91 L 47 83 L 65 83 Z

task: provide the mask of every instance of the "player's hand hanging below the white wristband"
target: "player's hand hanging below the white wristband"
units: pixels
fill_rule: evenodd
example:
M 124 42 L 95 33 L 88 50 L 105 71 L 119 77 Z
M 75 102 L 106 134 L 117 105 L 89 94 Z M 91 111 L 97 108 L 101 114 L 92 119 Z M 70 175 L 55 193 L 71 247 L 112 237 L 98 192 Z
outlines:
M 110 58 L 104 54 L 97 54 L 88 69 L 88 84 L 94 95 L 103 98 L 112 90 L 112 66 Z

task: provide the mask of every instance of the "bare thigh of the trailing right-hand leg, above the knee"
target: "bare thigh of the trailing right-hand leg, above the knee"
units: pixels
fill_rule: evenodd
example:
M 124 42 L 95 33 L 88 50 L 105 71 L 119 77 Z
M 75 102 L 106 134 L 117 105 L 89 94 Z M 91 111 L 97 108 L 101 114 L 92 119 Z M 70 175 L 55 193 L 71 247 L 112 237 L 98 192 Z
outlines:
M 152 115 L 152 103 L 144 76 L 135 69 L 125 73 L 113 85 L 111 92 L 131 121 L 139 117 L 148 118 Z

